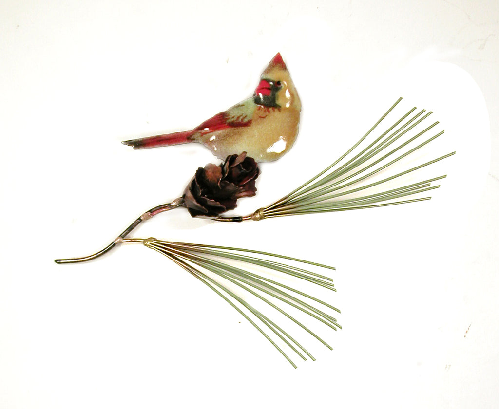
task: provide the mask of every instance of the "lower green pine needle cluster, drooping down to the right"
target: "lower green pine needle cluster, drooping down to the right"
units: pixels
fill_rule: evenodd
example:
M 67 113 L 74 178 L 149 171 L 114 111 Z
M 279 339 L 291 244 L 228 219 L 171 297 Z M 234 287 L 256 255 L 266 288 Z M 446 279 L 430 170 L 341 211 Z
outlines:
M 252 306 L 247 296 L 242 294 L 250 294 L 249 298 L 252 296 L 262 301 L 277 311 L 278 316 L 287 318 L 284 322 L 294 323 L 295 326 L 300 327 L 332 350 L 332 347 L 319 335 L 294 317 L 293 311 L 298 310 L 312 318 L 312 321 L 324 324 L 325 327 L 336 331 L 341 326 L 330 314 L 339 313 L 340 310 L 313 295 L 294 288 L 288 282 L 303 280 L 313 288 L 322 287 L 336 291 L 332 279 L 310 271 L 306 267 L 287 265 L 276 259 L 291 260 L 302 266 L 334 269 L 333 267 L 294 257 L 236 247 L 178 243 L 156 238 L 132 238 L 124 239 L 123 242 L 142 242 L 201 280 L 239 311 L 294 368 L 296 365 L 284 349 L 289 349 L 303 360 L 308 357 L 315 361 L 315 358 L 287 330 Z M 257 254 L 258 257 L 252 254 Z M 236 292 L 237 289 L 239 289 L 239 294 Z

